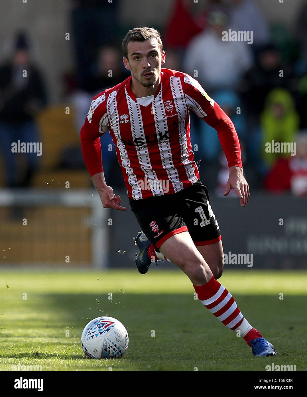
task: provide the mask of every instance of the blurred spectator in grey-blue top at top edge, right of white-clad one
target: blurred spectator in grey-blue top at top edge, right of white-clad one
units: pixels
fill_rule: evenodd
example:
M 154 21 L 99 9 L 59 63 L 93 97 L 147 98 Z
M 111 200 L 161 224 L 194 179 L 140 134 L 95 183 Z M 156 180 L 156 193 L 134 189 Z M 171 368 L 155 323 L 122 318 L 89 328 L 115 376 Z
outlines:
M 229 4 L 229 0 L 225 3 Z M 230 0 L 229 28 L 232 31 L 252 31 L 253 50 L 270 41 L 269 24 L 254 0 Z

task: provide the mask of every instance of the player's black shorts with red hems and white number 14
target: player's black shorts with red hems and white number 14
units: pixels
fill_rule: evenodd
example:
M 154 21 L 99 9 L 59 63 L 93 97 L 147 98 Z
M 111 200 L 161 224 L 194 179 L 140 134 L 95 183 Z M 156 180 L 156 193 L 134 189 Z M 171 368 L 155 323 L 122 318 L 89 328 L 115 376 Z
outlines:
M 156 248 L 183 231 L 189 231 L 195 245 L 221 240 L 208 190 L 200 180 L 178 193 L 129 202 L 142 231 Z

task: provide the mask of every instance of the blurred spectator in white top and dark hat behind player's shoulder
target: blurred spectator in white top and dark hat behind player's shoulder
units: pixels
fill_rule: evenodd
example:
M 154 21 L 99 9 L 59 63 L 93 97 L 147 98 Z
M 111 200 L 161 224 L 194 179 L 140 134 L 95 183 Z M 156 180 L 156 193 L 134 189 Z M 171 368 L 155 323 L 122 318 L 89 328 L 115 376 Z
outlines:
M 228 17 L 223 8 L 212 8 L 208 23 L 209 29 L 194 37 L 188 46 L 184 71 L 196 77 L 209 94 L 217 89 L 236 89 L 252 65 L 250 45 L 222 40 L 223 31 L 228 31 Z

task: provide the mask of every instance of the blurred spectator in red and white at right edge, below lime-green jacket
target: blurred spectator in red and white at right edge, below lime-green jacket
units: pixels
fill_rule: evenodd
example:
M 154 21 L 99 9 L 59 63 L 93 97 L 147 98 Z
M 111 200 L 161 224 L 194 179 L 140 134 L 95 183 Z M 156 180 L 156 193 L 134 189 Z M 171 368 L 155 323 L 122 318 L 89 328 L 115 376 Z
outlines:
M 307 132 L 302 131 L 295 141 L 296 156 L 279 158 L 265 178 L 265 188 L 271 193 L 307 195 Z

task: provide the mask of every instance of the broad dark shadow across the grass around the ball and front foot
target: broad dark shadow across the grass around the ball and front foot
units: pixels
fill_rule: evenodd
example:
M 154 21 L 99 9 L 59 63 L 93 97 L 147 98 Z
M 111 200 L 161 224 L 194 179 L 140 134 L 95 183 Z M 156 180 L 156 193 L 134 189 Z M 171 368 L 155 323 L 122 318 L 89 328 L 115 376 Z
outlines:
M 44 350 L 49 345 L 54 350 L 59 344 L 61 353 L 36 354 L 36 347 L 25 345 L 25 349 L 31 349 L 30 352 L 8 352 L 0 358 L 87 361 L 81 344 L 73 343 L 72 339 L 80 341 L 82 330 L 90 320 L 107 315 L 117 318 L 127 328 L 130 336 L 129 350 L 135 362 L 145 359 L 150 362 L 151 357 L 177 362 L 178 357 L 184 360 L 194 355 L 195 359 L 199 358 L 202 363 L 208 362 L 209 366 L 213 359 L 217 360 L 217 370 L 224 370 L 224 364 L 219 364 L 219 360 L 228 357 L 231 362 L 229 368 L 233 368 L 233 360 L 237 360 L 238 355 L 242 354 L 244 360 L 245 357 L 250 357 L 247 350 L 244 352 L 244 341 L 238 343 L 235 333 L 223 326 L 200 302 L 195 301 L 193 293 L 142 295 L 118 292 L 113 293 L 112 300 L 108 298 L 106 293 L 36 295 L 32 301 L 28 301 L 25 308 L 26 314 L 29 311 L 29 320 L 26 317 L 22 326 L 18 323 L 18 328 L 30 331 L 35 327 L 39 330 L 39 337 L 46 338 L 46 345 L 39 345 L 37 349 Z M 289 358 L 294 360 L 294 354 L 297 354 L 296 340 L 305 336 L 304 320 L 301 316 L 305 297 L 287 296 L 280 301 L 278 295 L 236 295 L 235 299 L 247 320 L 275 345 L 278 358 L 289 356 L 290 352 Z M 34 325 L 32 310 L 39 310 L 44 318 L 50 316 L 50 319 L 57 320 L 54 322 L 38 318 L 38 323 Z M 70 341 L 69 337 L 65 337 L 66 330 L 70 331 Z M 153 331 L 155 337 L 152 337 Z M 23 337 L 27 339 L 26 332 Z M 63 343 L 65 339 L 67 344 Z M 263 370 L 261 365 L 262 363 L 259 368 Z

